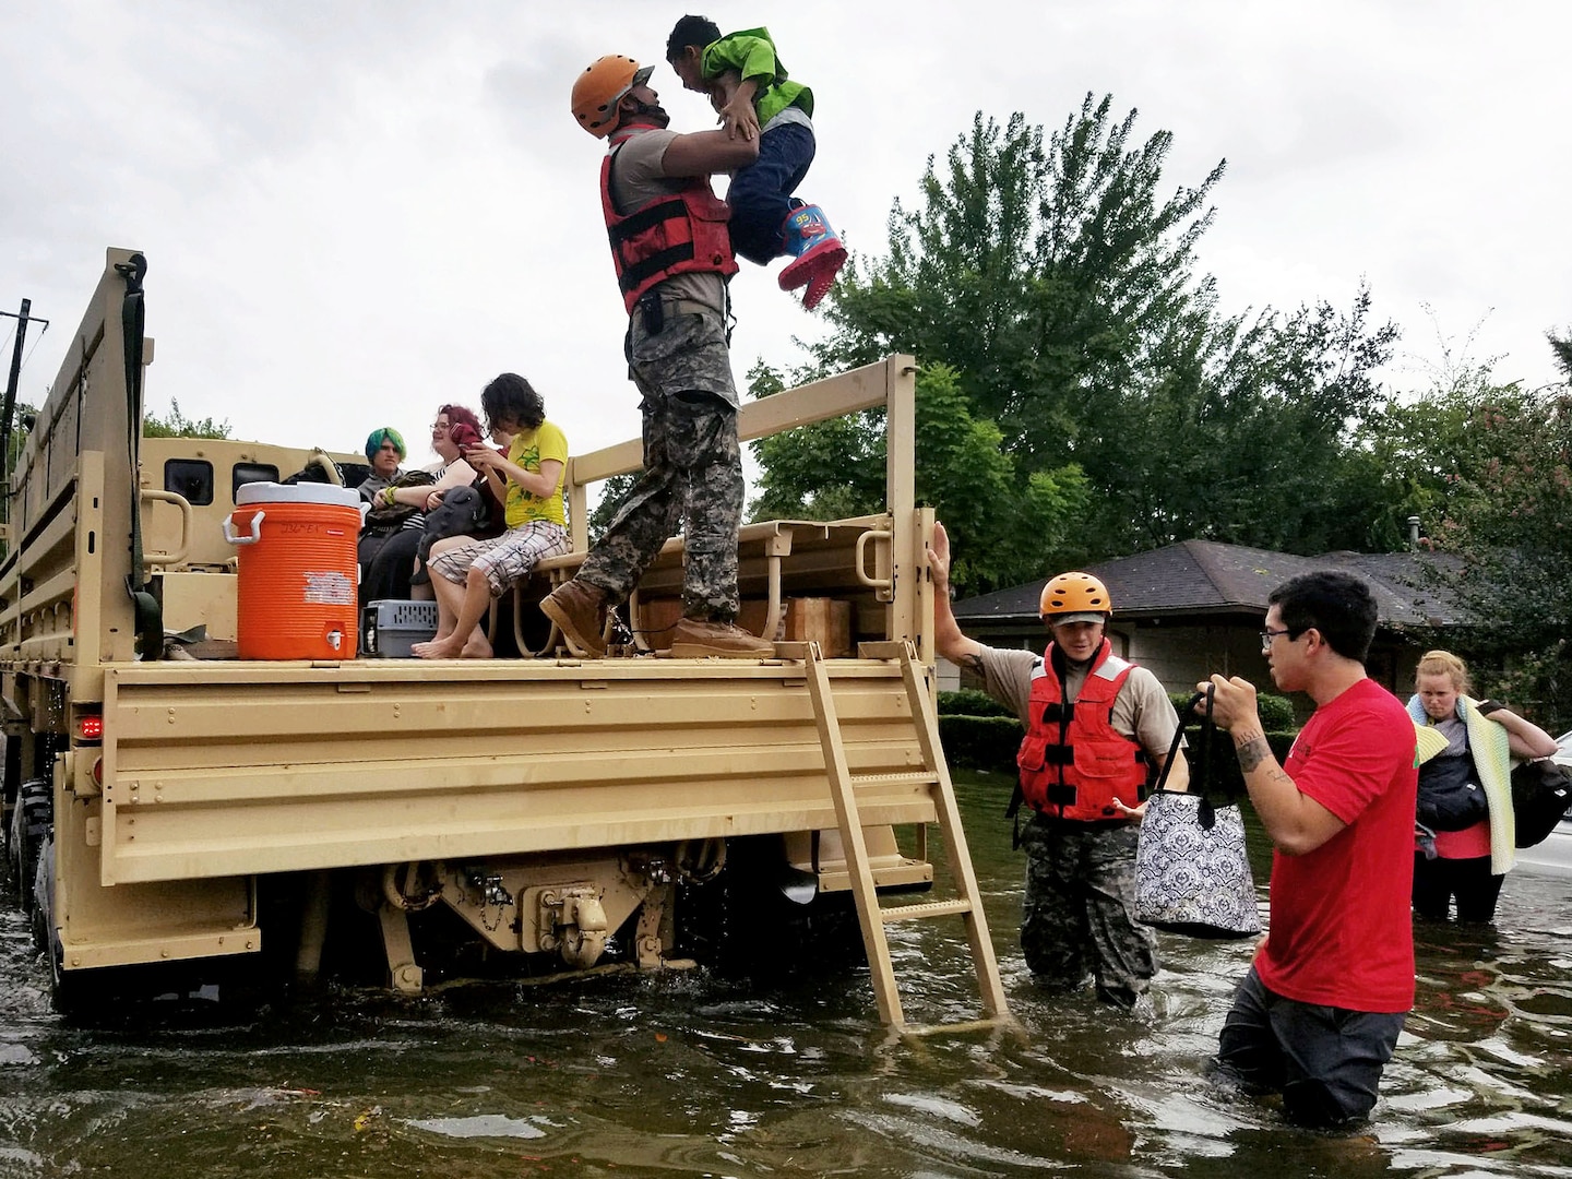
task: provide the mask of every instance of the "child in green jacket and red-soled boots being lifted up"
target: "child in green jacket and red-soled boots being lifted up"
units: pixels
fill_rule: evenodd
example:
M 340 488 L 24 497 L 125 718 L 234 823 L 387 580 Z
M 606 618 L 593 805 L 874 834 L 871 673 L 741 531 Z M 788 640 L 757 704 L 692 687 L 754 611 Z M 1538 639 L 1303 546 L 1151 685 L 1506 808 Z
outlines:
M 802 305 L 817 307 L 846 263 L 846 247 L 817 204 L 792 196 L 813 163 L 813 91 L 786 74 L 764 28 L 720 35 L 703 16 L 678 20 L 667 61 L 687 90 L 709 94 L 726 130 L 759 137 L 759 157 L 737 171 L 726 192 L 731 248 L 767 266 L 781 255 L 783 291 L 806 286 Z

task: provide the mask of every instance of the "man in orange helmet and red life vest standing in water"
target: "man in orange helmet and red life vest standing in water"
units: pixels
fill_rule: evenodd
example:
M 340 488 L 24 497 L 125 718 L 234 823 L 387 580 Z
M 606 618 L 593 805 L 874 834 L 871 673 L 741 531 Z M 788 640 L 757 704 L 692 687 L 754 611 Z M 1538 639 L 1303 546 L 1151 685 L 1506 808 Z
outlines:
M 1027 725 L 1017 764 L 1031 822 L 1020 949 L 1033 976 L 1056 989 L 1088 975 L 1097 997 L 1148 1009 L 1157 973 L 1152 931 L 1135 920 L 1140 788 L 1168 758 L 1179 715 L 1157 678 L 1111 652 L 1104 637 L 1111 604 L 1089 574 L 1050 578 L 1042 621 L 1052 645 L 1042 656 L 967 638 L 949 608 L 949 538 L 934 527 L 927 550 L 934 578 L 934 645 L 945 659 L 982 678 L 995 700 Z M 1086 773 L 1096 766 L 1096 773 Z M 1174 753 L 1168 789 L 1188 784 Z

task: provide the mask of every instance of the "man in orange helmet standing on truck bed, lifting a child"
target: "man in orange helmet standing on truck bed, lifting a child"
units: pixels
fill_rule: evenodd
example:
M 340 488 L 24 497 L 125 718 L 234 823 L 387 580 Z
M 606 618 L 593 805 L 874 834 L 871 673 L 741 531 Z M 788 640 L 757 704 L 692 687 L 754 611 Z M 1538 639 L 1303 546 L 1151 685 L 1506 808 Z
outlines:
M 572 110 L 593 135 L 612 138 L 602 204 L 630 313 L 626 351 L 643 396 L 645 472 L 578 574 L 541 608 L 582 652 L 602 654 L 607 607 L 634 591 L 681 525 L 682 619 L 671 654 L 769 659 L 773 643 L 736 624 L 744 481 L 726 330 L 736 263 L 725 206 L 709 189 L 712 173 L 750 163 L 758 143 L 668 130 L 649 69 L 619 55 L 578 77 Z M 707 236 L 711 220 L 718 236 Z

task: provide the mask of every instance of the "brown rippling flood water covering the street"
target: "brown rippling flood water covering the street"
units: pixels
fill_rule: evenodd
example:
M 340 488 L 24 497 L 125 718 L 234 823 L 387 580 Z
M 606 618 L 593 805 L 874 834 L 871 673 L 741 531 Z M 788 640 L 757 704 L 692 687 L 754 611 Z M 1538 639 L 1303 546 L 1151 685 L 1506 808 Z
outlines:
M 1374 1119 L 1322 1137 L 1199 1078 L 1250 943 L 1165 935 L 1149 1023 L 1036 992 L 1008 783 L 957 788 L 1019 1034 L 891 1041 L 866 971 L 346 989 L 86 1030 L 6 909 L 0 1176 L 1572 1176 L 1572 877 L 1514 872 L 1495 934 L 1416 931 Z M 890 932 L 909 1019 L 973 1017 L 956 926 Z

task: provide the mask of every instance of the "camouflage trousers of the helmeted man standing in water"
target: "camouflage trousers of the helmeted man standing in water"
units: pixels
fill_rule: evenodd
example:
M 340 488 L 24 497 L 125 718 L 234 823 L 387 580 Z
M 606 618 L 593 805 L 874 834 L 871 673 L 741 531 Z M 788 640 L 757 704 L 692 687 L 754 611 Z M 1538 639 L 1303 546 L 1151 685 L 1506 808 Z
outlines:
M 1022 832 L 1020 948 L 1039 982 L 1129 1008 L 1157 973 L 1157 938 L 1135 920 L 1135 824 L 1094 828 L 1036 816 Z

